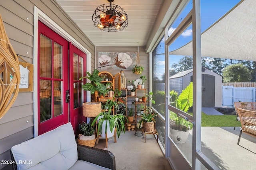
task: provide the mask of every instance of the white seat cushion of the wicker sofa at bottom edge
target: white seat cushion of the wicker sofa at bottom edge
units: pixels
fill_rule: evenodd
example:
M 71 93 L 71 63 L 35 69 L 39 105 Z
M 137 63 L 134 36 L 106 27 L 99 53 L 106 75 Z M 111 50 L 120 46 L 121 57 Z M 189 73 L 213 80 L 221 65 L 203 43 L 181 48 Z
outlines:
M 81 168 L 82 167 L 82 168 Z M 86 162 L 84 160 L 77 160 L 76 163 L 69 170 L 110 170 L 108 168 Z

